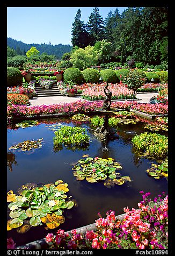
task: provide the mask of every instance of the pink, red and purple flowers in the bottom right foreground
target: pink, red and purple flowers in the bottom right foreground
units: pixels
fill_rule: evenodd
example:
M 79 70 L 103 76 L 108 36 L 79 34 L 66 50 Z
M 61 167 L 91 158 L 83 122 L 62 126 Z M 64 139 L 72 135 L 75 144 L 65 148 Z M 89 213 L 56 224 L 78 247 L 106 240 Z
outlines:
M 158 195 L 154 200 L 150 193 L 143 193 L 138 209 L 124 208 L 125 217 L 118 220 L 110 210 L 103 218 L 98 214 L 97 231 L 85 234 L 71 230 L 71 235 L 59 229 L 54 235 L 48 233 L 46 242 L 50 249 L 167 249 L 168 196 Z M 162 193 L 163 196 L 165 193 Z M 156 204 L 157 203 L 157 204 Z

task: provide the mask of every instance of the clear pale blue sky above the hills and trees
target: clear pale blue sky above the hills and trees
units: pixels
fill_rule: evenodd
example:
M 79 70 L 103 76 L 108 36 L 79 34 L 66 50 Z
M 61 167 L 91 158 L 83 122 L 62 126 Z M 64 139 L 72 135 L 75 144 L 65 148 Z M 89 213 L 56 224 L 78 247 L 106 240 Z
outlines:
M 71 29 L 78 8 L 81 20 L 86 24 L 94 7 L 8 7 L 7 37 L 26 44 L 48 43 L 71 45 Z M 100 7 L 99 13 L 105 20 L 110 10 L 116 7 Z M 127 7 L 118 7 L 122 13 Z

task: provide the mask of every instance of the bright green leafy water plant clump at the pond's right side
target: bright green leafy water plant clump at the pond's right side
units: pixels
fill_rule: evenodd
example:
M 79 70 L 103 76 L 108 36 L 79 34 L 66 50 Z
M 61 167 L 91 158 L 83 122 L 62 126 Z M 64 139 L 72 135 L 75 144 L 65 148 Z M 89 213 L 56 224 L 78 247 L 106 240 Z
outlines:
M 132 139 L 135 150 L 149 158 L 164 159 L 167 157 L 168 139 L 156 133 L 144 132 Z

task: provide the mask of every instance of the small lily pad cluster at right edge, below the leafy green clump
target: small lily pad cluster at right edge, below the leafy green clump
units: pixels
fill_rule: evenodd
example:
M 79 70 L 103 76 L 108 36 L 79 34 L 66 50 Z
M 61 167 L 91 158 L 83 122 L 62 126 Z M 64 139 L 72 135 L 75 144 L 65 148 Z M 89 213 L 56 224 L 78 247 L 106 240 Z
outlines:
M 168 161 L 167 159 L 163 161 L 161 165 L 151 164 L 151 168 L 147 169 L 147 173 L 154 177 L 155 179 L 160 179 L 160 177 L 168 177 Z

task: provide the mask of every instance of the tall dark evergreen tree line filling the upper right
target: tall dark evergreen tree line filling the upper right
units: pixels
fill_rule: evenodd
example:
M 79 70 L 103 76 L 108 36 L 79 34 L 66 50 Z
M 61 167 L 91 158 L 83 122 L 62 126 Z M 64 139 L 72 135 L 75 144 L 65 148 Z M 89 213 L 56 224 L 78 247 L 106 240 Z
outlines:
M 116 8 L 104 20 L 99 8 L 93 8 L 87 24 L 78 9 L 72 23 L 72 45 L 85 48 L 106 39 L 111 42 L 110 61 L 143 62 L 158 65 L 167 62 L 167 7 L 129 7 L 120 15 Z

